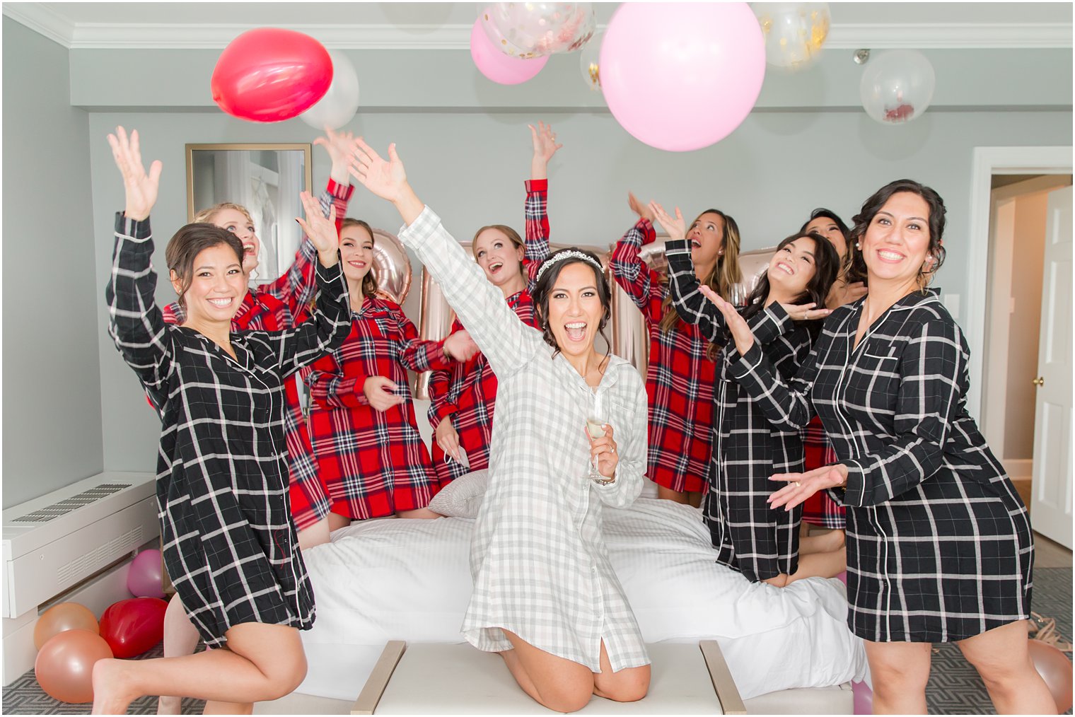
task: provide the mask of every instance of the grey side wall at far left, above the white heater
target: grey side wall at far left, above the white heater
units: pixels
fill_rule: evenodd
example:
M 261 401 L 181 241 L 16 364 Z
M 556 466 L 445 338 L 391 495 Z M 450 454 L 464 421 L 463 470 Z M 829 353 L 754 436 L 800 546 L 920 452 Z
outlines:
M 99 473 L 88 115 L 68 52 L 3 18 L 3 506 Z

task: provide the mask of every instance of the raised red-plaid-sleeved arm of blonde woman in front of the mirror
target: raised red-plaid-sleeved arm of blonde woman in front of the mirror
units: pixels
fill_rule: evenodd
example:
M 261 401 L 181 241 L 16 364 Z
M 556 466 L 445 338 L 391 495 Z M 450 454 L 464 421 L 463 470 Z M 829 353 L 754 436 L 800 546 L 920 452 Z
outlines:
M 355 137 L 350 132 L 336 133 L 331 129 L 327 129 L 326 132 L 326 137 L 314 140 L 314 144 L 325 147 L 332 159 L 329 183 L 318 197 L 317 205 L 320 215 L 326 217 L 333 209 L 335 210 L 335 228 L 336 234 L 339 234 L 340 225 L 347 216 L 347 203 L 355 191 L 347 173 L 347 163 L 355 146 Z M 316 263 L 317 248 L 310 241 L 310 236 L 303 234 L 290 268 L 275 281 L 262 284 L 254 291 L 276 297 L 287 304 L 291 316 L 298 316 L 314 300 L 314 293 L 317 290 L 314 277 Z

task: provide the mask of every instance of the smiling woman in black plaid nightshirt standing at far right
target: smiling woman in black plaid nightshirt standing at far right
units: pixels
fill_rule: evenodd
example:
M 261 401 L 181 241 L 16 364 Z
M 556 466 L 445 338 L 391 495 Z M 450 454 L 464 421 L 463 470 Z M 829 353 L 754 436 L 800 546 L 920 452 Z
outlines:
M 962 332 L 926 289 L 944 260 L 944 213 L 909 180 L 865 201 L 849 241 L 870 293 L 832 313 L 790 382 L 734 309 L 717 305 L 740 385 L 774 425 L 805 426 L 816 410 L 841 460 L 773 476 L 787 485 L 771 504 L 830 489 L 847 507 L 848 623 L 866 641 L 875 713 L 924 714 L 931 643 L 956 642 L 998 713 L 1056 714 L 1027 645 L 1027 508 L 966 413 Z

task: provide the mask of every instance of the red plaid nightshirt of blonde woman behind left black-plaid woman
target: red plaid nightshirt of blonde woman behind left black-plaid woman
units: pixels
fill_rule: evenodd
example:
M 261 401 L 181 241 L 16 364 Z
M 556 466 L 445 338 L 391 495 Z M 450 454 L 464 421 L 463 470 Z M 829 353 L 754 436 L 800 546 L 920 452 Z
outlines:
M 347 216 L 347 202 L 353 185 L 341 185 L 329 178 L 329 184 L 318 198 L 326 216 L 331 206 L 336 211 L 336 231 Z M 314 271 L 317 249 L 305 236 L 295 255 L 295 263 L 280 278 L 262 284 L 246 292 L 239 312 L 231 319 L 232 331 L 281 331 L 290 329 L 309 317 L 309 307 L 317 292 Z M 178 303 L 164 307 L 164 321 L 182 324 L 186 313 Z M 291 517 L 298 530 L 310 528 L 329 513 L 329 498 L 317 476 L 317 461 L 310 445 L 306 421 L 302 416 L 302 402 L 295 378 L 284 382 L 287 403 L 284 406 L 284 439 L 287 443 L 289 469 L 289 498 Z

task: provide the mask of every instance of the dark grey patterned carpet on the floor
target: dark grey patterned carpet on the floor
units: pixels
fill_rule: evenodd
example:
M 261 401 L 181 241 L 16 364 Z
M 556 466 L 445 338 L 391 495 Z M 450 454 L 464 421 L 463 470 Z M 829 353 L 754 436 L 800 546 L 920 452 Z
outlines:
M 1064 640 L 1072 637 L 1072 569 L 1040 568 L 1034 571 L 1034 612 L 1056 618 L 1057 630 Z M 160 657 L 160 647 L 144 657 Z M 989 696 L 962 653 L 955 645 L 938 645 L 933 655 L 933 669 L 926 688 L 926 701 L 931 714 L 988 715 L 993 714 Z M 184 700 L 184 715 L 200 715 L 200 700 Z M 3 714 L 8 715 L 85 715 L 88 704 L 57 702 L 38 687 L 30 670 L 3 689 Z M 157 712 L 157 698 L 142 698 L 131 704 L 130 715 L 153 715 Z M 1072 714 L 1071 711 L 1067 714 Z

